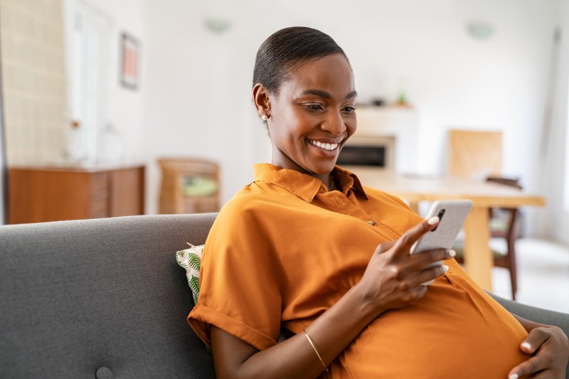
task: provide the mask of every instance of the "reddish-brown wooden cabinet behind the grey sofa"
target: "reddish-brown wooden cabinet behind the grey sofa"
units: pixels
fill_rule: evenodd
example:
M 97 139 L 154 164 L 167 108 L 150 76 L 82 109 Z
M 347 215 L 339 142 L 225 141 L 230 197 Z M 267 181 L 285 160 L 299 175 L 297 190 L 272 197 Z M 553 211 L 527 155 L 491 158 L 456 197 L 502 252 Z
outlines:
M 144 214 L 144 166 L 11 167 L 8 222 Z

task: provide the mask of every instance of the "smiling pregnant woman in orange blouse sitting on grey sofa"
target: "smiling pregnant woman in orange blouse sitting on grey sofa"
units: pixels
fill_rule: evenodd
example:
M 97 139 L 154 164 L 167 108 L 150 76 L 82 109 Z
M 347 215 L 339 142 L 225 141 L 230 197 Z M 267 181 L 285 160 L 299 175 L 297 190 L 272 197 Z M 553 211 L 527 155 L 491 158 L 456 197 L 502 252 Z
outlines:
M 188 315 L 218 378 L 562 375 L 563 331 L 509 314 L 452 250 L 411 255 L 438 218 L 336 166 L 357 119 L 334 40 L 277 31 L 257 53 L 252 96 L 272 164 L 256 165 L 216 218 Z

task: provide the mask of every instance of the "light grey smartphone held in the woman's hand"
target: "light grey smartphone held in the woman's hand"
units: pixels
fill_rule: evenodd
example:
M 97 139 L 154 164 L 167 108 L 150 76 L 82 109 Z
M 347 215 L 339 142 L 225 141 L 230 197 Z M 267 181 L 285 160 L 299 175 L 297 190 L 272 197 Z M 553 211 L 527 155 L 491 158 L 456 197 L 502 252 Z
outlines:
M 472 201 L 469 200 L 444 200 L 432 203 L 427 219 L 433 216 L 439 216 L 439 225 L 430 232 L 425 233 L 411 247 L 411 254 L 418 254 L 426 250 L 450 249 L 454 240 L 457 239 L 458 233 L 462 228 L 464 220 L 466 220 Z M 429 267 L 442 265 L 442 261 L 434 262 Z M 423 283 L 424 285 L 432 284 L 434 280 Z

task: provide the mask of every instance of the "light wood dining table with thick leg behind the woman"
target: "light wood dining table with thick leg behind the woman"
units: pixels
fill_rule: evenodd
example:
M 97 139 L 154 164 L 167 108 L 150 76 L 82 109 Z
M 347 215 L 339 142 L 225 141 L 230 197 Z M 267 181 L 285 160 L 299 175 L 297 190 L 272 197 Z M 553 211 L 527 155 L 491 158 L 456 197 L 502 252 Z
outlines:
M 474 178 L 400 174 L 367 166 L 346 169 L 356 174 L 364 186 L 398 196 L 415 210 L 425 201 L 471 200 L 472 209 L 463 225 L 464 266 L 474 282 L 490 292 L 493 255 L 489 247 L 489 209 L 543 206 L 546 203 L 543 196 Z

